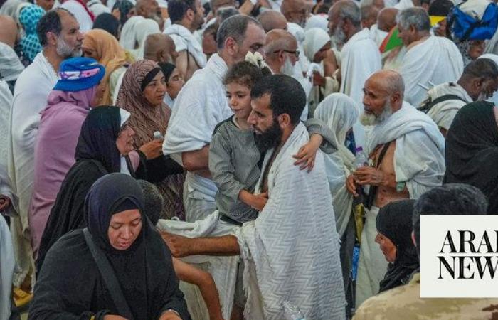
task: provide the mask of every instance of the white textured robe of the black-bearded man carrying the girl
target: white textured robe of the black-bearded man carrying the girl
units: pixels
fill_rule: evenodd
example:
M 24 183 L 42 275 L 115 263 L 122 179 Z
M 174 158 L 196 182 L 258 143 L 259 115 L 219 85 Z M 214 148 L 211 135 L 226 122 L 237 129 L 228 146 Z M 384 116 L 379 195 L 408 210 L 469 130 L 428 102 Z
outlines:
M 345 317 L 339 238 L 323 154 L 317 153 L 311 173 L 292 159 L 307 141 L 304 124 L 297 124 L 270 168 L 265 208 L 234 231 L 245 266 L 245 319 L 286 319 L 286 300 L 307 319 Z M 261 183 L 260 178 L 257 191 Z

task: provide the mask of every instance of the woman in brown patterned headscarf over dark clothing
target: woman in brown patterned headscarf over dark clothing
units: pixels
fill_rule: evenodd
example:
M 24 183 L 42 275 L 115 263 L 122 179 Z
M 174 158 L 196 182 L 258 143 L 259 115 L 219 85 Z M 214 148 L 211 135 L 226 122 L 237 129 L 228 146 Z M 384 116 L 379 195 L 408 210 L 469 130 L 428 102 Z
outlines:
M 155 139 L 154 132 L 166 135 L 171 109 L 164 104 L 166 80 L 159 65 L 151 60 L 140 60 L 129 66 L 124 74 L 116 105 L 132 115 L 129 126 L 135 132 L 133 144 L 140 148 L 147 142 L 162 146 L 162 139 Z M 179 174 L 166 176 L 164 169 L 177 169 Z M 149 158 L 148 171 L 153 173 L 154 182 L 164 198 L 164 212 L 161 218 L 184 217 L 183 168 L 169 156 L 159 154 Z

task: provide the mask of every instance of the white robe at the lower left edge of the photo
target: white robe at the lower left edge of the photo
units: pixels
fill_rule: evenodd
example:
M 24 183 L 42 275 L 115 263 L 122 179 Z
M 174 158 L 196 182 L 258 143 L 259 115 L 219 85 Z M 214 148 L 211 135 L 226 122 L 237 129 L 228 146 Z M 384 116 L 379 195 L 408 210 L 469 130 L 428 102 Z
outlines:
M 0 217 L 0 319 L 11 316 L 12 276 L 16 260 L 11 233 L 4 217 Z

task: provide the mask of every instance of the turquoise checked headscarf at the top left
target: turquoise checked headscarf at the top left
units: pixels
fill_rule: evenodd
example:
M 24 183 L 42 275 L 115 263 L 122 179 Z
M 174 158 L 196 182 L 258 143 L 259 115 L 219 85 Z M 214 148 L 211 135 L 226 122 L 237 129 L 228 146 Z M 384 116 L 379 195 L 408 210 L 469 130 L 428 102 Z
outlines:
M 44 14 L 45 10 L 41 6 L 33 4 L 33 6 L 26 6 L 19 15 L 19 22 L 26 32 L 26 36 L 21 39 L 21 47 L 26 58 L 31 61 L 42 49 L 36 33 L 36 25 Z

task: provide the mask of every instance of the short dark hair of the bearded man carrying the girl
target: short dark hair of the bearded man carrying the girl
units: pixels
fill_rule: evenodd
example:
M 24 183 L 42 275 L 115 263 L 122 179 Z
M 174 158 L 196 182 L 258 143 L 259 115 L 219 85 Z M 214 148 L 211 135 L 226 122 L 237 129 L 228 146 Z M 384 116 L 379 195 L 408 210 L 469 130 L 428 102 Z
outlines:
M 288 75 L 267 75 L 256 82 L 250 92 L 251 99 L 270 95 L 270 108 L 273 117 L 289 114 L 290 122 L 300 122 L 302 110 L 306 106 L 306 94 L 300 82 Z

